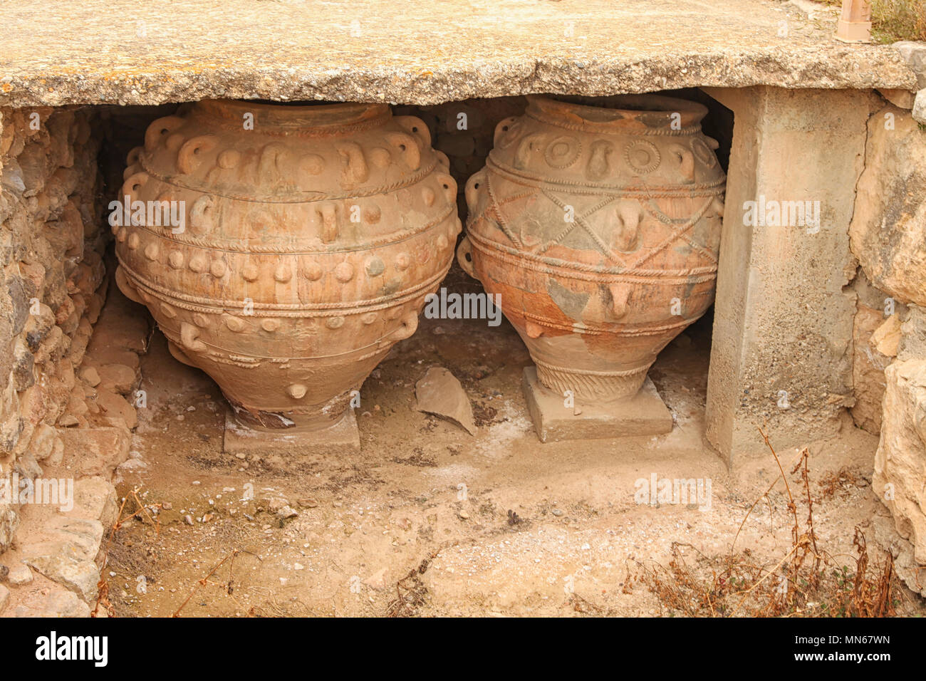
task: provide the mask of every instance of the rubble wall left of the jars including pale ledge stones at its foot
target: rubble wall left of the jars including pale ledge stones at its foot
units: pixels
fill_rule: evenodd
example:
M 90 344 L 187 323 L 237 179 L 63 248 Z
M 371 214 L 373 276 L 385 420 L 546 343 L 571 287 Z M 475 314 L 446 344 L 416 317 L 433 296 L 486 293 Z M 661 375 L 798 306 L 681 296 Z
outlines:
M 108 480 L 137 422 L 149 327 L 138 306 L 106 294 L 99 127 L 84 108 L 0 109 L 0 479 L 60 478 L 66 463 L 74 478 L 73 508 L 36 526 L 20 526 L 17 504 L 0 504 L 0 560 L 14 534 L 21 559 L 6 564 L 15 616 L 90 614 L 118 513 Z M 20 603 L 30 568 L 66 590 Z

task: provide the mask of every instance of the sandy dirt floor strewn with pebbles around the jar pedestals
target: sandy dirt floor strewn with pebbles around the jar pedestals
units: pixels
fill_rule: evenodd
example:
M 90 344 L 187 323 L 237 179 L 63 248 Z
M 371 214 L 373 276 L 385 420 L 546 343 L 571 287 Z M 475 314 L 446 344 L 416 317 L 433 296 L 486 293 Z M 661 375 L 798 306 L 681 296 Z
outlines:
M 673 542 L 693 564 L 723 557 L 761 498 L 735 551 L 772 569 L 792 546 L 783 486 L 762 498 L 778 475 L 772 456 L 731 474 L 703 443 L 709 342 L 705 319 L 650 372 L 675 419 L 668 435 L 542 444 L 520 389 L 530 358 L 507 322 L 422 317 L 363 385 L 359 455 L 239 459 L 222 452 L 219 389 L 156 333 L 117 488 L 160 504 L 159 527 L 139 514 L 114 537 L 104 576 L 115 613 L 676 614 L 631 578 L 668 565 Z M 415 410 L 415 382 L 432 366 L 460 379 L 478 435 Z M 817 541 L 854 566 L 856 525 L 889 517 L 870 489 L 877 438 L 848 422 L 807 445 Z M 796 454 L 779 452 L 782 465 Z M 710 497 L 637 503 L 637 481 L 653 475 L 709 482 Z M 882 555 L 870 546 L 872 561 Z M 899 589 L 897 612 L 926 609 Z

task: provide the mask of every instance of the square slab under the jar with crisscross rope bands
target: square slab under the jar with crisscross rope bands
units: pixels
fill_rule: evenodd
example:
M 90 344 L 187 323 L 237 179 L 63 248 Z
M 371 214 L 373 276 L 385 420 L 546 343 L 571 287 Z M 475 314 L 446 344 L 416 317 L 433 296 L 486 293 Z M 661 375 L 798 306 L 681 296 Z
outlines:
M 563 396 L 540 383 L 536 367 L 524 368 L 521 387 L 541 442 L 661 435 L 672 430 L 672 415 L 649 376 L 633 397 L 576 408 L 564 406 Z

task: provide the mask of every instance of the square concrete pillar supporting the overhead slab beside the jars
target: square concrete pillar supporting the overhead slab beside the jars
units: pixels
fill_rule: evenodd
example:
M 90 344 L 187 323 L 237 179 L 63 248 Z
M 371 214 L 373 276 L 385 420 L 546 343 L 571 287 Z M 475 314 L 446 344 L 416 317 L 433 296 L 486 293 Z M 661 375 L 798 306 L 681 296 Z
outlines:
M 707 382 L 707 439 L 732 464 L 768 453 L 758 426 L 776 448 L 801 446 L 851 404 L 844 286 L 870 94 L 705 92 L 734 115 Z

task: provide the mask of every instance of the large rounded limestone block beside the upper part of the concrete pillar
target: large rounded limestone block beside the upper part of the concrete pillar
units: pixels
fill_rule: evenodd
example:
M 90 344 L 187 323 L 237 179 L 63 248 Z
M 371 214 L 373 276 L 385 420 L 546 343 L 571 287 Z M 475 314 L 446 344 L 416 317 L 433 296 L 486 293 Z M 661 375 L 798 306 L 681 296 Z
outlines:
M 849 228 L 852 252 L 874 284 L 926 306 L 926 133 L 907 111 L 871 117 L 865 171 Z

